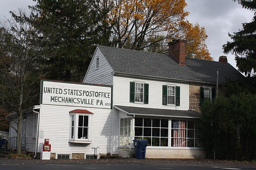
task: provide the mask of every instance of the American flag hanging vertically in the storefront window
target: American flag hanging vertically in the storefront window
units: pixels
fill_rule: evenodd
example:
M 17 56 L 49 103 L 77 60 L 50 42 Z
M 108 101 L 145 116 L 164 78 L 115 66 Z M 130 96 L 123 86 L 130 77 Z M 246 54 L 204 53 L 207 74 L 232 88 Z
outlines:
M 172 120 L 173 146 L 186 147 L 186 121 Z

